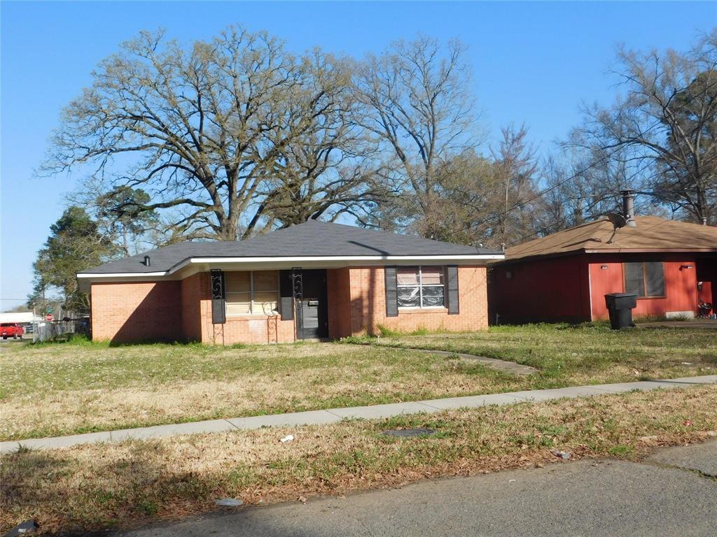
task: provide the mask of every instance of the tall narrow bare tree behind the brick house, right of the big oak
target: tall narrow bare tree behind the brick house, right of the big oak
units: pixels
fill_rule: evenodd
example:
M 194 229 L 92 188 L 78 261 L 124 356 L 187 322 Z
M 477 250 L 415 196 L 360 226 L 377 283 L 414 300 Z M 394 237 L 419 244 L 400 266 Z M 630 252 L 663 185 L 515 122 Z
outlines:
M 441 47 L 418 37 L 360 62 L 354 77 L 361 103 L 356 122 L 376 143 L 381 180 L 394 197 L 379 205 L 382 226 L 440 235 L 442 160 L 475 145 L 470 72 L 460 42 Z

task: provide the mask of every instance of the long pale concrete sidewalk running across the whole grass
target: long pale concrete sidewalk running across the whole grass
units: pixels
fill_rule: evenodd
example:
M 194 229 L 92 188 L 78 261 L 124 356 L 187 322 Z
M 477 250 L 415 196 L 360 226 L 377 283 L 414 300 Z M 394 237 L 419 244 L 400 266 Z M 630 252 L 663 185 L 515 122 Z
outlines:
M 469 397 L 449 397 L 426 401 L 391 403 L 389 405 L 371 405 L 369 407 L 331 408 L 292 412 L 290 414 L 265 415 L 254 417 L 235 417 L 229 420 L 209 420 L 203 422 L 156 425 L 105 432 L 90 432 L 85 435 L 60 436 L 54 438 L 33 438 L 12 442 L 0 442 L 0 453 L 11 453 L 20 445 L 32 449 L 69 448 L 79 444 L 98 442 L 120 442 L 130 438 L 146 439 L 177 435 L 194 435 L 204 432 L 224 432 L 232 430 L 251 430 L 261 427 L 298 427 L 300 425 L 324 425 L 341 420 L 366 419 L 377 420 L 402 414 L 420 414 L 422 412 L 441 412 L 457 408 L 477 408 L 488 405 L 511 405 L 526 401 L 547 401 L 561 397 L 584 397 L 610 393 L 632 392 L 634 390 L 657 390 L 658 388 L 687 387 L 699 384 L 717 384 L 717 374 L 701 377 L 683 377 L 643 382 L 620 382 L 617 384 L 597 384 L 556 388 L 554 390 L 526 390 L 492 395 L 472 395 Z

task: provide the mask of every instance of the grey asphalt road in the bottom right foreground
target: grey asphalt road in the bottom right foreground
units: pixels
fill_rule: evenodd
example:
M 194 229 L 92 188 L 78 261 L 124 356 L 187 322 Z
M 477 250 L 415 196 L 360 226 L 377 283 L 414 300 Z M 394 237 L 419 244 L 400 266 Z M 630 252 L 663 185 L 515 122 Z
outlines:
M 717 440 L 642 463 L 582 460 L 244 508 L 122 533 L 199 536 L 717 535 Z

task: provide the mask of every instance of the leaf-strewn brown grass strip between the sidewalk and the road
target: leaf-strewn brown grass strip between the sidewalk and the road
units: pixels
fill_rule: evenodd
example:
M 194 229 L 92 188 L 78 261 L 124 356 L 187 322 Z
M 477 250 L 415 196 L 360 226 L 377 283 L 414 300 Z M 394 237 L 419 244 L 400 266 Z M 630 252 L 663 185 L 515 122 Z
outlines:
M 210 511 L 226 496 L 271 503 L 532 468 L 555 462 L 552 448 L 572 459 L 640 458 L 654 445 L 706 438 L 716 407 L 717 387 L 708 386 L 17 453 L 2 460 L 0 528 L 27 518 L 44 531 L 117 528 Z M 438 434 L 379 435 L 415 426 Z M 288 432 L 296 439 L 278 442 Z

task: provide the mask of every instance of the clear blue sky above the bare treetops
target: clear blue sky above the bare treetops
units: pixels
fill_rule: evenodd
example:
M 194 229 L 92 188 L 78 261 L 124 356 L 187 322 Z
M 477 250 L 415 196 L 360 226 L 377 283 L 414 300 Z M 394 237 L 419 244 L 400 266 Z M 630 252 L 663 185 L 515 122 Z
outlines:
M 1 9 L 0 309 L 31 289 L 32 261 L 79 177 L 33 179 L 60 110 L 120 42 L 164 27 L 183 42 L 229 24 L 302 52 L 379 52 L 417 32 L 468 45 L 485 128 L 525 122 L 550 150 L 582 101 L 610 102 L 617 44 L 685 49 L 717 24 L 713 2 L 19 2 Z

